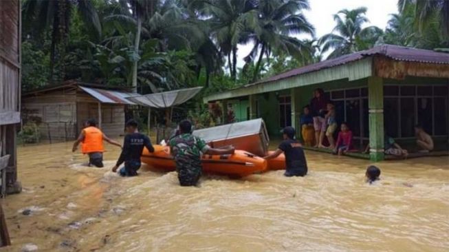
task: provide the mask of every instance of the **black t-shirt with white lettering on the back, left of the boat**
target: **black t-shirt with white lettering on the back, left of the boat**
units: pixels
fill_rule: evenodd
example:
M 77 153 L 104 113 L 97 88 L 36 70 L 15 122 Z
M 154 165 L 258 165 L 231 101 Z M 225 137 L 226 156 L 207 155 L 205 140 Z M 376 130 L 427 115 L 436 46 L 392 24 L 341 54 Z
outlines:
M 117 166 L 122 165 L 122 162 L 131 160 L 140 160 L 144 147 L 150 152 L 154 152 L 153 145 L 151 145 L 150 138 L 138 132 L 127 134 L 123 140 L 123 149 L 120 158 L 118 158 Z

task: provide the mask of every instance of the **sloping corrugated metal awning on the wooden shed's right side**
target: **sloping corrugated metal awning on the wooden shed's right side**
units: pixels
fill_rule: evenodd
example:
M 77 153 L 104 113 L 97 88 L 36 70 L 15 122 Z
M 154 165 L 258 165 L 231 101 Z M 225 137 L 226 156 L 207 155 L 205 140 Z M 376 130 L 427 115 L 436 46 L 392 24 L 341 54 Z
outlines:
M 79 86 L 80 89 L 87 92 L 91 96 L 94 96 L 100 103 L 116 103 L 116 104 L 127 104 L 127 105 L 137 105 L 132 101 L 129 101 L 127 97 L 130 96 L 139 96 L 137 93 L 130 92 L 120 92 L 113 90 L 103 90 L 99 88 L 91 88 L 91 87 L 83 87 Z

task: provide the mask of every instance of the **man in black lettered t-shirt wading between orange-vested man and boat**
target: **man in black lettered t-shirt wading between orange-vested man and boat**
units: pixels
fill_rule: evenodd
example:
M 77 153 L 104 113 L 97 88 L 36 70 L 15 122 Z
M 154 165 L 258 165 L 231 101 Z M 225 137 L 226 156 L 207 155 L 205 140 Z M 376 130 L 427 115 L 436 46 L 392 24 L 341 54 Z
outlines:
M 123 140 L 122 154 L 117 160 L 116 166 L 112 168 L 113 172 L 116 172 L 118 167 L 124 162 L 124 167 L 120 169 L 121 176 L 137 176 L 138 169 L 140 168 L 140 156 L 144 147 L 150 152 L 154 152 L 153 145 L 151 145 L 150 138 L 144 134 L 138 132 L 138 123 L 131 119 L 127 121 L 127 136 Z

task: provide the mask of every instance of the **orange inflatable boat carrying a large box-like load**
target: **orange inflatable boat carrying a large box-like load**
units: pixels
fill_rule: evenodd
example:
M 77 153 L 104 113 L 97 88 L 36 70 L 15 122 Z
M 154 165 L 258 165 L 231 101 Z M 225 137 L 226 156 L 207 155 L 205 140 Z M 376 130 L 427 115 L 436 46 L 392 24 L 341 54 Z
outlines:
M 171 157 L 170 148 L 153 145 L 155 152 L 146 148 L 142 153 L 142 162 L 155 169 L 175 171 L 175 160 Z M 267 169 L 267 161 L 247 151 L 236 150 L 233 155 L 204 155 L 201 157 L 205 173 L 223 174 L 236 177 L 249 176 Z

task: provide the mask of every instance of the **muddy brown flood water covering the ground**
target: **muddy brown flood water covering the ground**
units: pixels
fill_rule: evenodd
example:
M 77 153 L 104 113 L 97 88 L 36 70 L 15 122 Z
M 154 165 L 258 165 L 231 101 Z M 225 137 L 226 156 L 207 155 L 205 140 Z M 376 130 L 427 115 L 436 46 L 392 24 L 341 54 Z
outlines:
M 113 174 L 111 145 L 105 168 L 83 167 L 71 146 L 19 147 L 6 251 L 449 250 L 448 157 L 382 162 L 382 180 L 366 185 L 368 160 L 308 151 L 305 178 L 205 176 L 186 188 L 175 172 Z

